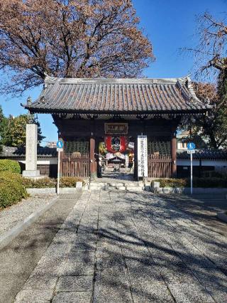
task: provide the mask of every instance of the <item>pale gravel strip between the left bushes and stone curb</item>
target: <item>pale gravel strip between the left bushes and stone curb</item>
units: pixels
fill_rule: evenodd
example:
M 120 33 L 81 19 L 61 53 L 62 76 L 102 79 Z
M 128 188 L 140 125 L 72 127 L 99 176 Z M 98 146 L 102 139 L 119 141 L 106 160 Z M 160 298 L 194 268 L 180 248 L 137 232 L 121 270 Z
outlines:
M 0 235 L 6 233 L 39 208 L 45 206 L 55 195 L 35 196 L 0 211 Z

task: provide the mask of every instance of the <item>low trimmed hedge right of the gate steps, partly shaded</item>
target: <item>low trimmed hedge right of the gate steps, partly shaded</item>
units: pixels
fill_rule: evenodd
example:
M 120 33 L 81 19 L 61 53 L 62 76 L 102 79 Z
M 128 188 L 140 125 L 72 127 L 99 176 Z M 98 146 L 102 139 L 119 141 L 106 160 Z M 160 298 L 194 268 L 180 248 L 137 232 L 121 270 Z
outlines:
M 190 179 L 156 179 L 154 181 L 160 182 L 160 187 L 189 187 Z M 193 178 L 194 187 L 203 187 L 203 188 L 227 188 L 227 179 L 226 178 Z

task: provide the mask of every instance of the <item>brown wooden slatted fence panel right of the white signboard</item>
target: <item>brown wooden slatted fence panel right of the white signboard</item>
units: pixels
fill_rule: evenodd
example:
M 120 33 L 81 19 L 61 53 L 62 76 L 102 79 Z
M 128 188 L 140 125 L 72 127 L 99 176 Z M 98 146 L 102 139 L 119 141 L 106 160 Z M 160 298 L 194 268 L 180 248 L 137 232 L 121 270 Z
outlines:
M 169 154 L 148 154 L 148 177 L 170 178 L 171 163 Z

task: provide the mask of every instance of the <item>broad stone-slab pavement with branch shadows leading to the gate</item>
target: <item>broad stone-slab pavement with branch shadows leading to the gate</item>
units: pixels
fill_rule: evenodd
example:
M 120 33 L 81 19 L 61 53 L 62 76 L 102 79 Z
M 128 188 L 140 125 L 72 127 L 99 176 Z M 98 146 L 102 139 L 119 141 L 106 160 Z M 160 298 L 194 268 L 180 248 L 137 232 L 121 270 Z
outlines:
M 84 191 L 16 302 L 227 302 L 226 248 L 152 193 Z

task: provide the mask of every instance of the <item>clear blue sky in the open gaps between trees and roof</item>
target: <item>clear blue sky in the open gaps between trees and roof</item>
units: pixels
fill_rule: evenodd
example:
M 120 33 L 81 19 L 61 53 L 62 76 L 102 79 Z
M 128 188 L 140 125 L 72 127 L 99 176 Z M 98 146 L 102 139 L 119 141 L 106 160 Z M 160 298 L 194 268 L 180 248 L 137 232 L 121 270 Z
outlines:
M 148 78 L 189 75 L 193 58 L 180 54 L 179 48 L 196 45 L 196 16 L 209 11 L 210 14 L 221 17 L 227 8 L 227 0 L 133 0 L 133 4 L 140 17 L 140 26 L 153 43 L 156 57 L 155 63 L 144 71 Z M 1 96 L 4 114 L 16 116 L 26 113 L 21 102 L 25 103 L 29 95 L 35 100 L 40 90 L 41 87 L 37 87 L 20 98 Z M 52 124 L 51 115 L 38 115 L 38 119 L 45 140 L 57 140 L 57 128 Z

